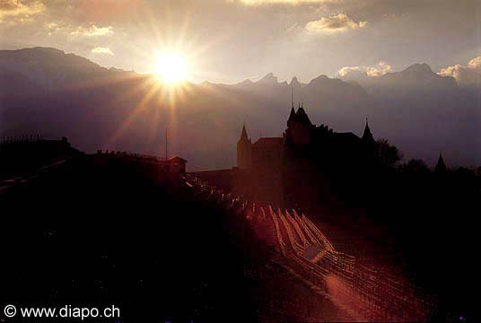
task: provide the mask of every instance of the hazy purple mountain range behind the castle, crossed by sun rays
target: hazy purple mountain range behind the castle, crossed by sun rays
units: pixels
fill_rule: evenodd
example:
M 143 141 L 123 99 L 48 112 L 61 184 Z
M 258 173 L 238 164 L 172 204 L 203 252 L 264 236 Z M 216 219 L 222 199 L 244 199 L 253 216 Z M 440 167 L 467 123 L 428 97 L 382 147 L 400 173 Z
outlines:
M 56 48 L 0 50 L 0 135 L 65 135 L 86 152 L 162 154 L 167 127 L 171 154 L 186 158 L 189 170 L 230 168 L 242 121 L 254 138 L 282 135 L 292 89 L 317 125 L 360 135 L 369 118 L 374 137 L 389 139 L 406 159 L 433 165 L 442 152 L 449 166 L 481 164 L 481 89 L 426 64 L 309 83 L 279 82 L 272 73 L 258 82 L 188 83 L 175 99 L 162 84 L 153 93 L 155 82 Z

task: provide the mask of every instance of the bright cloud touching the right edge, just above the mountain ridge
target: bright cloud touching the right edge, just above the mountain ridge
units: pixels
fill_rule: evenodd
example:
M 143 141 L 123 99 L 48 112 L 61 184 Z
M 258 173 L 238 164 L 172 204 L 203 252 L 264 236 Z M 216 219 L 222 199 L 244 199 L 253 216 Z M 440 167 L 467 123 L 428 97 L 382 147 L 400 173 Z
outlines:
M 471 59 L 468 65 L 444 67 L 438 74 L 454 77 L 459 86 L 481 87 L 481 56 Z

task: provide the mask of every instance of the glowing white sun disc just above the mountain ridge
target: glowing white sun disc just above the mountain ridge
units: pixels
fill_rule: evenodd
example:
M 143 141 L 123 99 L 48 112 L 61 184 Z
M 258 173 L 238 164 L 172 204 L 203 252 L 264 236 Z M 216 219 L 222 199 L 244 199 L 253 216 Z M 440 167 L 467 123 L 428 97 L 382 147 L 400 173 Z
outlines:
M 154 73 L 164 83 L 179 84 L 187 80 L 188 60 L 180 53 L 157 54 Z

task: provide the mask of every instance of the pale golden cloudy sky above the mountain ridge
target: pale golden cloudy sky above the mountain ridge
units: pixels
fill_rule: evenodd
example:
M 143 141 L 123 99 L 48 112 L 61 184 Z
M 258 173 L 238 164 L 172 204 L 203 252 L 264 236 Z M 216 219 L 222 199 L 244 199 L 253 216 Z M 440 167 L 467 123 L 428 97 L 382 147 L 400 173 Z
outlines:
M 309 82 L 414 63 L 454 74 L 481 62 L 481 1 L 0 0 L 0 48 L 36 46 L 139 73 L 179 52 L 194 82 L 269 72 Z

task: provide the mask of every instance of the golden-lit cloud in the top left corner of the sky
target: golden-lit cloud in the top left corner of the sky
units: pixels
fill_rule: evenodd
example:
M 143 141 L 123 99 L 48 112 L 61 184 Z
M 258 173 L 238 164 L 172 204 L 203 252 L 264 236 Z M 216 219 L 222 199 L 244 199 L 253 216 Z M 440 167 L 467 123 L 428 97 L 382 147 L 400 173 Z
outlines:
M 42 13 L 45 5 L 38 1 L 0 0 L 0 22 L 29 22 L 31 16 Z

